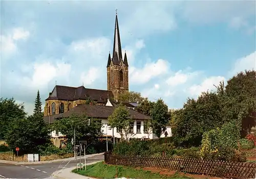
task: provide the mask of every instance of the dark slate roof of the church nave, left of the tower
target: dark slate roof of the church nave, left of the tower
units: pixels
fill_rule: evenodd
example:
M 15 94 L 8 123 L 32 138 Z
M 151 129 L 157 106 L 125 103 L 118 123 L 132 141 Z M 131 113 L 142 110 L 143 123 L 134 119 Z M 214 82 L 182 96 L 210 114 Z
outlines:
M 46 99 L 59 99 L 59 100 L 77 100 L 77 99 L 91 99 L 97 101 L 97 103 L 105 103 L 108 98 L 112 98 L 114 95 L 112 91 L 89 89 L 84 86 L 69 87 L 56 85 L 51 95 Z

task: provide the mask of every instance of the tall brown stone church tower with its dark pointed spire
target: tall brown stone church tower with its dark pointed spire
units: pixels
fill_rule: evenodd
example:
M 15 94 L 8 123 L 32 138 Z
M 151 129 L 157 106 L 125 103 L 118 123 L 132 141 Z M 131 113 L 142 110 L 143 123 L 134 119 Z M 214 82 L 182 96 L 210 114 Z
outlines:
M 113 92 L 115 99 L 118 98 L 118 95 L 120 93 L 129 91 L 128 61 L 127 61 L 126 52 L 124 54 L 124 58 L 122 57 L 117 12 L 116 12 L 116 22 L 115 22 L 113 55 L 111 58 L 111 55 L 109 54 L 106 71 L 107 71 L 108 90 Z

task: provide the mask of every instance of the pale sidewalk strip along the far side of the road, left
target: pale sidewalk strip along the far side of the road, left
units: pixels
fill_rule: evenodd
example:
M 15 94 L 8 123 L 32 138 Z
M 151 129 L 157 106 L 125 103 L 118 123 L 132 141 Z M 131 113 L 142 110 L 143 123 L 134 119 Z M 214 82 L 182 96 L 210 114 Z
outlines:
M 101 156 L 105 152 L 99 153 L 99 154 L 90 154 L 87 155 L 86 158 L 91 158 L 95 156 Z M 6 164 L 45 164 L 45 163 L 53 163 L 53 162 L 61 162 L 61 161 L 70 161 L 70 160 L 76 160 L 75 157 L 72 158 L 66 158 L 66 159 L 57 159 L 57 160 L 49 160 L 49 161 L 40 161 L 40 162 L 17 162 L 17 161 L 9 161 L 9 160 L 0 160 L 0 163 L 6 163 Z

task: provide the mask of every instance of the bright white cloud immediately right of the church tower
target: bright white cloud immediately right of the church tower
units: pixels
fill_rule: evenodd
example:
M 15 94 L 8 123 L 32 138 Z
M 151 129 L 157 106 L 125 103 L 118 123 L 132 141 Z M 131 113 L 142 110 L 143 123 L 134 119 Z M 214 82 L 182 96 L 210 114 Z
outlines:
M 168 72 L 169 63 L 166 60 L 159 59 L 157 62 L 146 63 L 141 69 L 133 68 L 130 72 L 131 83 L 144 84 L 151 79 Z

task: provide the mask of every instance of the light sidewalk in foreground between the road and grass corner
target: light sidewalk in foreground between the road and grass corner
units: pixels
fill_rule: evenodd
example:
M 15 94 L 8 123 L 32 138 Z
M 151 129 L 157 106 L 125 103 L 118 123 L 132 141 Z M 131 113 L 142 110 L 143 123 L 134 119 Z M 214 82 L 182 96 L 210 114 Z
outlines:
M 98 161 L 100 162 L 100 161 Z M 98 162 L 91 162 L 87 165 L 92 165 L 92 164 L 96 164 Z M 72 167 L 72 168 L 66 168 L 63 170 L 58 170 L 56 172 L 52 173 L 53 177 L 57 177 L 57 178 L 61 178 L 61 179 L 71 179 L 71 178 L 84 178 L 84 179 L 95 179 L 92 177 L 88 177 L 88 176 L 83 176 L 80 174 L 76 174 L 76 173 L 72 173 L 72 170 L 76 169 L 76 167 Z

